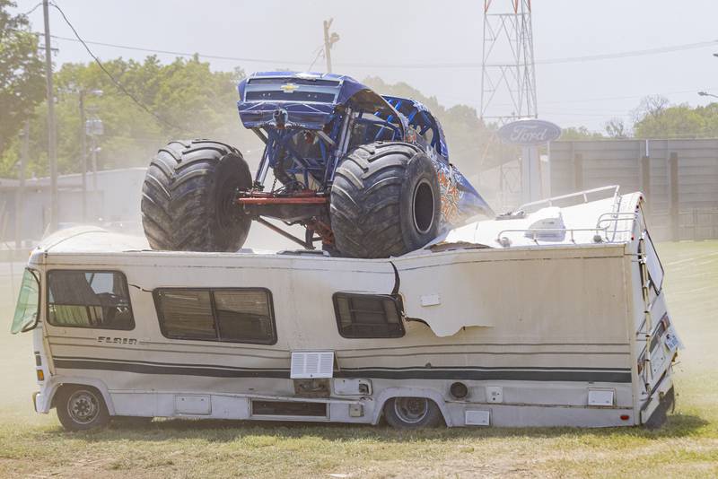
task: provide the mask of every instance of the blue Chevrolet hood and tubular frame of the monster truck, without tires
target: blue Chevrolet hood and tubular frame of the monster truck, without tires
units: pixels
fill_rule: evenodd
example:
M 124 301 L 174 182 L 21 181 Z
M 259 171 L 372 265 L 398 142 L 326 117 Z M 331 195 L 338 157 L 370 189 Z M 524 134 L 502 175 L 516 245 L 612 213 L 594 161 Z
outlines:
M 346 152 L 377 141 L 420 144 L 448 162 L 442 128 L 423 104 L 381 97 L 348 76 L 253 74 L 239 93 L 242 123 L 265 143 L 254 179 L 260 191 L 271 168 L 282 183 L 273 193 L 327 193 Z

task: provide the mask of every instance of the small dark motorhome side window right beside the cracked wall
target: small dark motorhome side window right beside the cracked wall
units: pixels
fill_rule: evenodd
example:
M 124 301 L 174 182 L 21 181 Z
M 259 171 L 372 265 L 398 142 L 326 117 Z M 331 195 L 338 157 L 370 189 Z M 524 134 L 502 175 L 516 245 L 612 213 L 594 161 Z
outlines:
M 401 305 L 390 295 L 334 293 L 339 334 L 347 338 L 401 337 Z

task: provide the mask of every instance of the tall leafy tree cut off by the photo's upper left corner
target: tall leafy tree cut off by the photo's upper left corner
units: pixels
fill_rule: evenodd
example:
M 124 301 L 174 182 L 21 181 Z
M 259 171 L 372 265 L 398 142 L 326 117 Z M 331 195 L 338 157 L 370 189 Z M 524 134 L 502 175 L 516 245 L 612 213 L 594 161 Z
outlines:
M 0 0 L 0 155 L 45 96 L 38 39 L 25 15 L 8 11 L 14 6 Z

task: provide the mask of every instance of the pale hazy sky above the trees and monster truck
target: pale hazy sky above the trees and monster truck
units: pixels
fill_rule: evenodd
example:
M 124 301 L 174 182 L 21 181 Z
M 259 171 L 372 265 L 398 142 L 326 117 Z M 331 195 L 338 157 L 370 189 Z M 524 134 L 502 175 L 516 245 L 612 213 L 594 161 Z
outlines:
M 322 21 L 340 36 L 332 48 L 335 73 L 403 81 L 445 106 L 478 109 L 481 98 L 481 0 L 54 0 L 87 40 L 132 47 L 241 57 L 212 59 L 215 70 L 307 70 L 323 42 Z M 38 0 L 16 0 L 16 11 Z M 511 0 L 494 0 L 503 11 Z M 718 94 L 718 2 L 715 0 L 533 0 L 532 24 L 538 116 L 559 126 L 599 131 L 610 118 L 630 123 L 642 97 L 705 104 L 697 91 Z M 50 9 L 53 35 L 73 33 Z M 42 30 L 42 8 L 29 15 Z M 652 48 L 714 42 L 667 53 L 595 61 L 545 63 Z M 76 42 L 56 39 L 55 61 L 90 61 Z M 91 45 L 101 59 L 142 59 L 147 53 Z M 500 51 L 498 52 L 501 53 Z M 163 61 L 175 56 L 158 55 Z M 503 58 L 492 58 L 495 61 Z M 251 60 L 251 61 L 250 61 Z M 473 64 L 456 66 L 456 64 Z M 416 66 L 419 67 L 416 67 Z M 324 71 L 323 58 L 312 70 Z M 710 99 L 708 99 L 710 100 Z M 508 114 L 505 100 L 492 113 Z M 233 108 L 231 105 L 229 108 Z

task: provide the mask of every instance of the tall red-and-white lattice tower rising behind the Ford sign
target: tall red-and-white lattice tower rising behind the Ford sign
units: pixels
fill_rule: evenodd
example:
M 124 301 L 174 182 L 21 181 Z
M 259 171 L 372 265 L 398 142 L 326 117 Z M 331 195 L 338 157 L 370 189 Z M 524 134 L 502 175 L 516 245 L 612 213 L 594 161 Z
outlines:
M 484 0 L 481 118 L 538 118 L 531 0 Z

